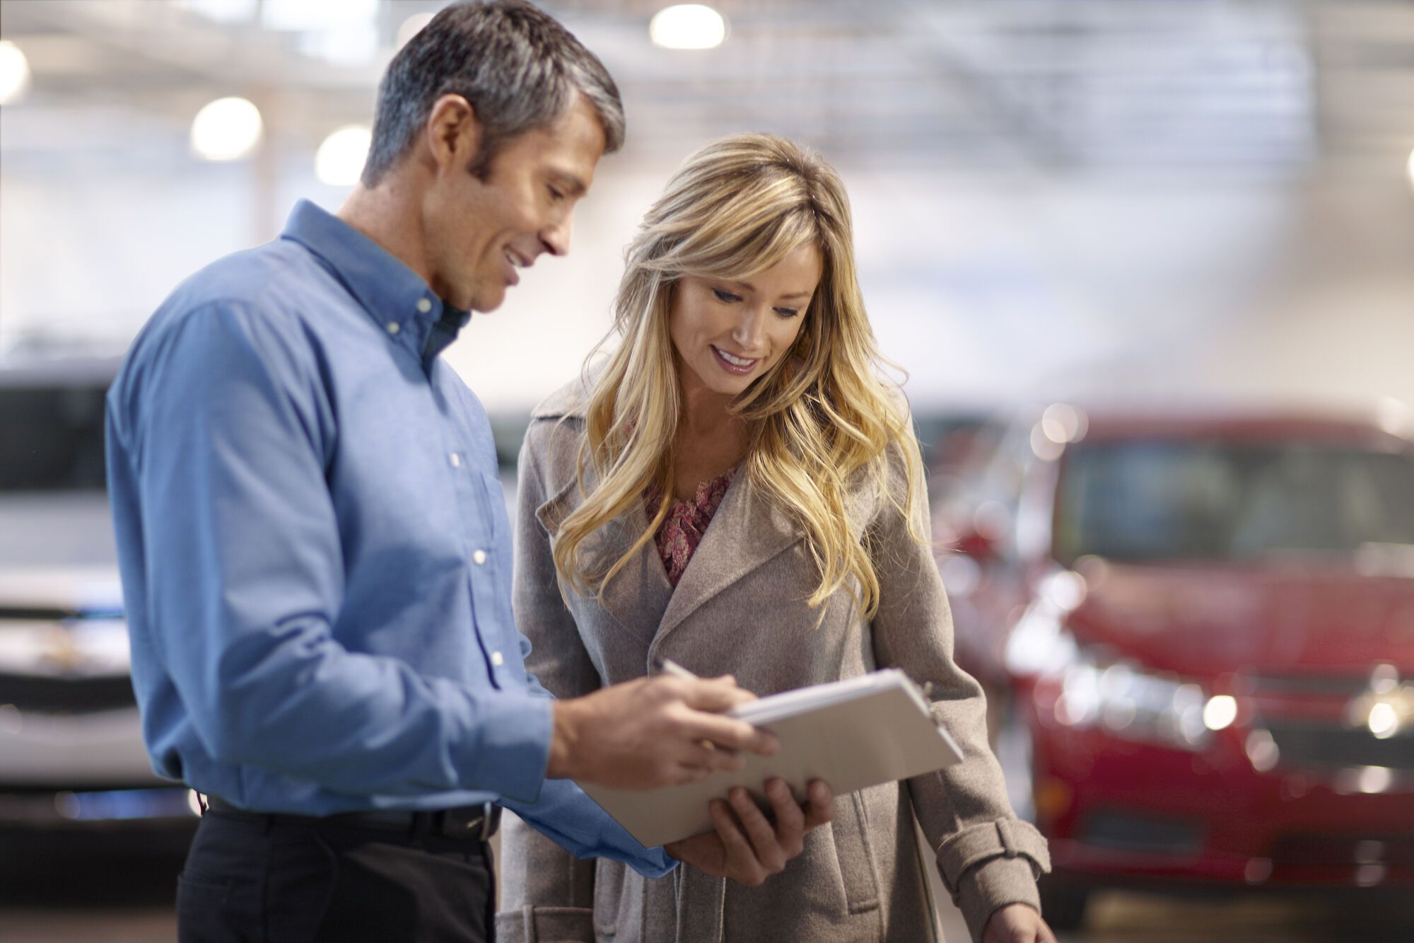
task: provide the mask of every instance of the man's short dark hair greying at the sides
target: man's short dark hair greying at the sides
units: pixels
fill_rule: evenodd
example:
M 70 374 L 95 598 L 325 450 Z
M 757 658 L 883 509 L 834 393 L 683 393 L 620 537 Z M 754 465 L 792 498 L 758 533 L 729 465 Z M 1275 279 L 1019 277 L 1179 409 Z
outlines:
M 443 95 L 461 95 L 481 123 L 468 170 L 485 180 L 518 135 L 553 125 L 583 93 L 604 127 L 604 153 L 624 144 L 624 102 L 604 64 L 525 0 L 455 3 L 423 27 L 378 86 L 373 143 L 362 181 L 373 187 L 413 146 Z

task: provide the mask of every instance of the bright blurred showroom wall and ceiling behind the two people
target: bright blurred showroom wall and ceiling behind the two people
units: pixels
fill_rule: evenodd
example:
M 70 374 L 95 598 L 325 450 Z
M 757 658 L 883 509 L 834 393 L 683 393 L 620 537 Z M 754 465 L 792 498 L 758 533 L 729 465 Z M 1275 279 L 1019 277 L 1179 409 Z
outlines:
M 400 38 L 441 6 L 4 0 L 0 347 L 120 350 L 298 197 L 337 207 L 349 185 L 317 176 L 321 143 L 370 120 Z M 450 351 L 493 412 L 577 370 L 643 208 L 737 130 L 844 176 L 916 405 L 1414 404 L 1407 0 L 724 0 L 707 50 L 655 45 L 658 3 L 543 6 L 621 84 L 629 143 L 571 255 Z M 263 130 L 206 160 L 192 123 L 226 96 Z

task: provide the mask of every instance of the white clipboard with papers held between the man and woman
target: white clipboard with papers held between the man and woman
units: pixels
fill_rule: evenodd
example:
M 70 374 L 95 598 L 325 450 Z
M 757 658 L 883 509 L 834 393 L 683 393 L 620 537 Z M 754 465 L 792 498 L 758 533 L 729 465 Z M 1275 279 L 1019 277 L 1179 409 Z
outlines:
M 775 756 L 745 753 L 740 772 L 718 770 L 696 783 L 655 790 L 580 783 L 590 799 L 645 847 L 714 831 L 707 804 L 744 786 L 769 808 L 762 791 L 779 776 L 797 801 L 823 779 L 836 796 L 921 776 L 962 762 L 947 731 L 933 724 L 922 691 L 898 668 L 783 691 L 728 712 L 764 726 L 781 741 Z

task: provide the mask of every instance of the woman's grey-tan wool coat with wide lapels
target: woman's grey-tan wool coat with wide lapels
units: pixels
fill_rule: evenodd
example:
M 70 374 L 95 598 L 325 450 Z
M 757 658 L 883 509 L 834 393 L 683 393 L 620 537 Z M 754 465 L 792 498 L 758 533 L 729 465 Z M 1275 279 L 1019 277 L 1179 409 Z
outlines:
M 527 668 L 557 697 L 642 677 L 655 658 L 700 675 L 734 674 L 758 695 L 896 667 L 932 682 L 933 715 L 964 760 L 905 783 L 836 799 L 834 821 L 806 835 L 805 851 L 758 888 L 689 865 L 656 881 L 607 859 L 578 861 L 520 821 L 502 837 L 502 912 L 508 943 L 923 943 L 940 937 L 915 841 L 922 824 L 943 884 L 980 939 L 993 910 L 1038 906 L 1045 840 L 1019 821 L 987 746 L 981 690 L 952 658 L 947 598 L 929 547 L 877 487 L 850 496 L 857 532 L 868 532 L 880 609 L 861 619 L 847 590 L 806 606 L 817 576 L 803 534 L 785 513 L 732 479 L 682 581 L 667 581 L 649 541 L 601 600 L 560 595 L 551 534 L 581 501 L 575 459 L 584 388 L 570 384 L 533 413 L 520 453 L 515 612 L 534 646 Z M 895 463 L 896 466 L 898 463 Z M 895 467 L 894 487 L 902 487 Z M 592 481 L 588 483 L 592 487 Z M 926 498 L 916 524 L 928 534 Z M 617 559 L 646 527 L 642 507 L 604 528 L 587 552 Z

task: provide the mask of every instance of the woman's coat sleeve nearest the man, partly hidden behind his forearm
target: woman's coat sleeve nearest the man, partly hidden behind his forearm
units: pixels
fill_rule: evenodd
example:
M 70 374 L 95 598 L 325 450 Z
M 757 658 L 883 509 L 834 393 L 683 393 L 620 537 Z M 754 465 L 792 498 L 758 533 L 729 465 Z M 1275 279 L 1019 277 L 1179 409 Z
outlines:
M 560 598 L 550 535 L 536 517 L 549 497 L 544 483 L 551 436 L 568 435 L 554 421 L 536 419 L 520 449 L 516 491 L 515 613 L 530 640 L 526 670 L 556 697 L 590 694 L 598 673 Z M 502 896 L 496 939 L 594 942 L 594 859 L 580 859 L 525 821 L 508 817 L 501 838 Z

